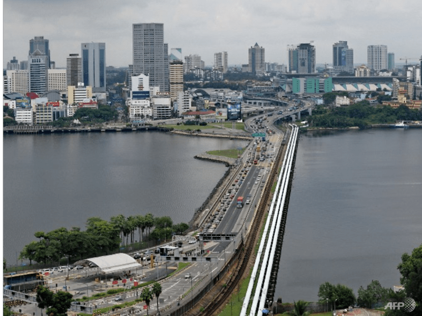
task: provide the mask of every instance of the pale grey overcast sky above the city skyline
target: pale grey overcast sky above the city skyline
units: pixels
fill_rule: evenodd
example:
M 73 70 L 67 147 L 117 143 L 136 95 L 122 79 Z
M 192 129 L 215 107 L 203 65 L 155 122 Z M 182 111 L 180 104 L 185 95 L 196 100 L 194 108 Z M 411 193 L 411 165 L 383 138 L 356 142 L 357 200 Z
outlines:
M 229 65 L 248 63 L 248 48 L 265 48 L 265 61 L 286 64 L 287 45 L 314 41 L 318 64 L 333 62 L 333 44 L 347 41 L 354 63 L 367 63 L 368 45 L 387 45 L 399 58 L 422 55 L 421 0 L 4 0 L 3 68 L 27 60 L 29 40 L 49 40 L 56 68 L 84 42 L 106 43 L 106 64 L 132 64 L 132 24 L 164 23 L 164 42 L 199 54 L 212 66 L 228 52 Z M 408 62 L 416 62 L 409 59 Z

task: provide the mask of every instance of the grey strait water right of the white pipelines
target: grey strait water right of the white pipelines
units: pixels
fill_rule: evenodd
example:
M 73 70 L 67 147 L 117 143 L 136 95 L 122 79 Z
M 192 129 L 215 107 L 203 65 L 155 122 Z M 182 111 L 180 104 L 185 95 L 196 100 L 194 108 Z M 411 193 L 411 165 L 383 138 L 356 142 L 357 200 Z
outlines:
M 400 284 L 422 243 L 422 131 L 299 138 L 275 300 L 318 300 L 321 283 Z

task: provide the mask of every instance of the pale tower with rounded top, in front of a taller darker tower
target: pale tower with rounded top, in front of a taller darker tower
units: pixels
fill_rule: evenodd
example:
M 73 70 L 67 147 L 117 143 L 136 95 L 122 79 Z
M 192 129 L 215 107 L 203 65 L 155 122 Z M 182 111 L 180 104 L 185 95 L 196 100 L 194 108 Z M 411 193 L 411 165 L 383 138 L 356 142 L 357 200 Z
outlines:
M 47 41 L 48 44 L 48 41 Z M 49 58 L 46 54 L 36 49 L 28 56 L 29 91 L 43 94 L 48 90 Z

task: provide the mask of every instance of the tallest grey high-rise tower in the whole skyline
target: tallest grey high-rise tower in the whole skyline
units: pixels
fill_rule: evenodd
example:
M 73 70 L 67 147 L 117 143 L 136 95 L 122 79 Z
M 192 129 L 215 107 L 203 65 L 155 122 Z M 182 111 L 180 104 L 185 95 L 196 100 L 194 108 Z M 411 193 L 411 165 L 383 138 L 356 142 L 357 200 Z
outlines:
M 149 76 L 149 85 L 168 91 L 168 45 L 163 23 L 136 23 L 133 27 L 133 75 Z

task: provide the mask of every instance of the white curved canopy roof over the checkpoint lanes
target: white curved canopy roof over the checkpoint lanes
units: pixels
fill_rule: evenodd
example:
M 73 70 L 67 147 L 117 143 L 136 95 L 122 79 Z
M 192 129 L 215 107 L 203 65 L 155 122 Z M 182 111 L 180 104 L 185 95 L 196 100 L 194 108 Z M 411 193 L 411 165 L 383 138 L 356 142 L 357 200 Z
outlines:
M 132 270 L 141 267 L 141 265 L 131 256 L 122 253 L 89 258 L 86 260 L 95 263 L 103 273 L 113 273 L 123 270 Z

